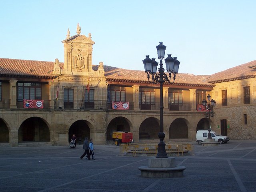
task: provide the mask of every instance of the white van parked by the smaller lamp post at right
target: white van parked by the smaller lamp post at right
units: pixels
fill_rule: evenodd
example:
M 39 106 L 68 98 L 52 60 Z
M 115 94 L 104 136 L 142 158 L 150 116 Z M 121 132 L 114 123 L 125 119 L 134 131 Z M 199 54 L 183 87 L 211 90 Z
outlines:
M 196 132 L 196 142 L 198 142 L 198 144 L 201 145 L 202 142 L 204 142 L 204 140 L 208 138 L 208 133 L 209 133 L 208 130 L 198 130 Z M 229 141 L 229 138 L 227 136 L 219 135 L 212 130 L 211 130 L 211 136 L 212 136 L 212 139 L 215 139 L 215 142 L 219 142 L 219 144 L 227 143 Z

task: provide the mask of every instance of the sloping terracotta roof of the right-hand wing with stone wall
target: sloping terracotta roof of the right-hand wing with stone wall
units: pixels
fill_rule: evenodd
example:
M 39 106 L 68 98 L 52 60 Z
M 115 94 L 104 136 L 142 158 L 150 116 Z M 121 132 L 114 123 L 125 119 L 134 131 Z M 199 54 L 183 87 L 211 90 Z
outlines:
M 256 77 L 256 60 L 210 75 L 210 83 L 227 82 Z

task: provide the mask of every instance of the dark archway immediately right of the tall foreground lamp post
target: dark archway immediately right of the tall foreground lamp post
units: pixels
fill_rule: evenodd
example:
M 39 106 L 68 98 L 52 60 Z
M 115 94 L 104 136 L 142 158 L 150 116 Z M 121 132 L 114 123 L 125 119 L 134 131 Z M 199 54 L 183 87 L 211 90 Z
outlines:
M 180 138 L 188 138 L 188 125 L 184 118 L 175 119 L 169 128 L 169 139 Z

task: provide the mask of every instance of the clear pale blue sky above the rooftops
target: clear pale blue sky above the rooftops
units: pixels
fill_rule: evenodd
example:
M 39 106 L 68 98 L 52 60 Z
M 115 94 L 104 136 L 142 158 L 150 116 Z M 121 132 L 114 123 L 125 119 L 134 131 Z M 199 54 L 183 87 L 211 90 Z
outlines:
M 164 42 L 180 73 L 256 60 L 256 0 L 0 0 L 0 58 L 64 61 L 62 40 L 92 34 L 93 64 L 144 70 Z M 159 60 L 157 59 L 159 62 Z

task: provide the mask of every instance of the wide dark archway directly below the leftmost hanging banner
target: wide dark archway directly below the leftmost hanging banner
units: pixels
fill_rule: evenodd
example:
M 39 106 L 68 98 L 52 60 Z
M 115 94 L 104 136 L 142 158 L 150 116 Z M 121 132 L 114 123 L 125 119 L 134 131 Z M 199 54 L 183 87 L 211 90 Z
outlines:
M 31 117 L 19 128 L 18 142 L 50 142 L 50 131 L 43 119 Z

